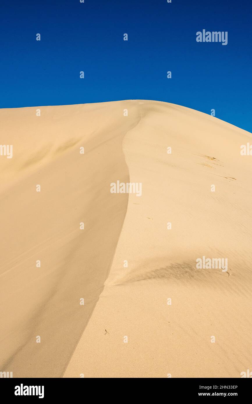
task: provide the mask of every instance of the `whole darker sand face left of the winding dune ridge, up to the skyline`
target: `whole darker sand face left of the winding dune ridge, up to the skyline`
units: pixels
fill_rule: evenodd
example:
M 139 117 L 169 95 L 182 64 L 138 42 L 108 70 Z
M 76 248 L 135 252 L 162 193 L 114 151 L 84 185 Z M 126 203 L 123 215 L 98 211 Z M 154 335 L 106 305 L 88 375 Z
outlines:
M 122 140 L 139 121 L 124 105 L 0 110 L 13 145 L 0 156 L 0 371 L 13 377 L 61 377 L 103 289 L 128 200 L 110 183 L 129 180 Z

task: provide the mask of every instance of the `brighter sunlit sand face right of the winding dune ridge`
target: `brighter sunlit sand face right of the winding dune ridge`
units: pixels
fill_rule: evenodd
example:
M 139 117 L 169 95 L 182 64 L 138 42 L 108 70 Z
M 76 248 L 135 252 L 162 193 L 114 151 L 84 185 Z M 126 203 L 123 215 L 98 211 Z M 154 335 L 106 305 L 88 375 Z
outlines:
M 178 105 L 137 104 L 123 152 L 142 196 L 129 194 L 64 377 L 241 377 L 252 368 L 252 157 L 240 146 L 252 135 Z M 203 256 L 228 259 L 227 271 L 197 268 Z

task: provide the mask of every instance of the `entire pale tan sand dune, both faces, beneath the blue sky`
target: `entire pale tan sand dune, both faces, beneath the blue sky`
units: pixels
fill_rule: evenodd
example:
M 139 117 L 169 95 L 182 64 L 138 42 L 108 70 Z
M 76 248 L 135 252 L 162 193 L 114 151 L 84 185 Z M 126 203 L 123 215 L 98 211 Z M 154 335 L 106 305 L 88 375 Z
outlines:
M 240 154 L 252 135 L 158 101 L 36 108 L 0 110 L 13 145 L 0 157 L 0 370 L 240 377 L 252 366 L 252 157 Z M 203 257 L 228 270 L 197 268 Z

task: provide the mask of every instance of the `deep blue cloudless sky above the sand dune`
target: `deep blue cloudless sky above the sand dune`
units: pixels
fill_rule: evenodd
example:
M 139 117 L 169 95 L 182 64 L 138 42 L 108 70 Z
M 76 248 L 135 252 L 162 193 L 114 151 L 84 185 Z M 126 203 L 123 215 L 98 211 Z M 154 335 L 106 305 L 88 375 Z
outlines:
M 251 16 L 251 0 L 1 2 L 0 108 L 152 99 L 252 132 Z

